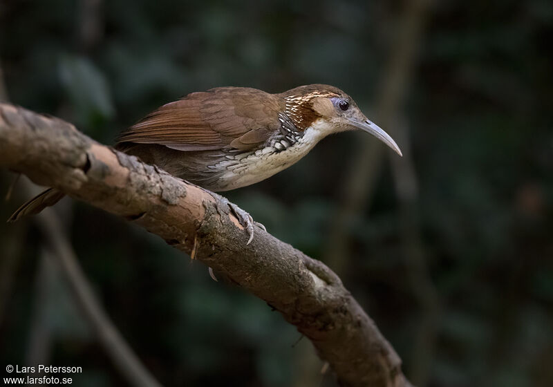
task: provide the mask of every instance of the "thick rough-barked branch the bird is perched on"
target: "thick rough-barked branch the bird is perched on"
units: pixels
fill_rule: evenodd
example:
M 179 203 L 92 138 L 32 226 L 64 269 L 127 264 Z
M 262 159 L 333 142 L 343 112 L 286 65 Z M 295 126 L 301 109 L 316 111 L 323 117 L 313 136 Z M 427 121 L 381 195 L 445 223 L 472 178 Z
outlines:
M 341 386 L 410 386 L 401 360 L 336 274 L 261 229 L 247 233 L 220 196 L 91 140 L 57 118 L 0 104 L 0 166 L 124 216 L 279 310 Z

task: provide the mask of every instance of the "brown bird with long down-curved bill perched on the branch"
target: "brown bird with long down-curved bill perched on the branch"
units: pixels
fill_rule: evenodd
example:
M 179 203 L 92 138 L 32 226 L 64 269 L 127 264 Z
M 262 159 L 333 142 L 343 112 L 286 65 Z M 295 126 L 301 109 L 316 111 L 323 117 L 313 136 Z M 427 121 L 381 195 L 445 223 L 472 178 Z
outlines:
M 252 185 L 290 167 L 332 133 L 361 130 L 402 151 L 355 101 L 335 86 L 310 84 L 283 93 L 218 87 L 190 93 L 123 131 L 115 149 L 214 192 Z M 43 191 L 8 221 L 37 214 L 64 193 Z M 253 238 L 250 214 L 227 201 Z

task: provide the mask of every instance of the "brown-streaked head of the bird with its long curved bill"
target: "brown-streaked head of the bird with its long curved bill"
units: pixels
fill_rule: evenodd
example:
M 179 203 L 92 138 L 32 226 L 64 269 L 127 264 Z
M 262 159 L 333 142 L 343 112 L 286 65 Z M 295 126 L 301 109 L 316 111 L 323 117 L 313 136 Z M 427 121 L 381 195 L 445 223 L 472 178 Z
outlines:
M 282 93 L 285 114 L 300 130 L 308 127 L 324 135 L 361 129 L 384 142 L 398 155 L 400 147 L 377 124 L 368 120 L 355 101 L 334 86 L 312 84 L 299 86 Z

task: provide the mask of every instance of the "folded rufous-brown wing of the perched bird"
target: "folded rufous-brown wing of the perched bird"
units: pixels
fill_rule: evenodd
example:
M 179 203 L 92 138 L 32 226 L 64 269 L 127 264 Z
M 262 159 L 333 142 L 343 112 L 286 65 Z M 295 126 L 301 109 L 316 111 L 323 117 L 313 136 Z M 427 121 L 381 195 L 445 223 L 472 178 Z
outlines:
M 118 142 L 179 151 L 254 149 L 278 129 L 278 112 L 277 98 L 263 91 L 213 88 L 161 106 L 122 133 Z

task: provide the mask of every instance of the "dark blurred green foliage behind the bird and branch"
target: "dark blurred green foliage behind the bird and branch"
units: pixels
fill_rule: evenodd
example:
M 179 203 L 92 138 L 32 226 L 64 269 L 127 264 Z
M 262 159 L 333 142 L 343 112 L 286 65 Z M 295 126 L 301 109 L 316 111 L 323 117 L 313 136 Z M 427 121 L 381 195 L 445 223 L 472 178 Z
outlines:
M 106 144 L 153 108 L 215 86 L 332 84 L 378 122 L 412 3 L 1 0 L 0 65 L 12 102 Z M 364 204 L 332 231 L 353 154 L 369 141 L 357 133 L 228 196 L 314 258 L 327 257 L 330 233 L 346 238 L 327 262 L 415 384 L 552 386 L 553 3 L 435 1 L 418 18 L 404 99 L 385 128 L 411 149 L 399 161 L 412 163 L 408 206 L 386 149 Z M 2 176 L 3 193 L 11 181 Z M 71 200 L 57 210 L 97 296 L 162 384 L 335 386 L 259 299 L 119 218 Z M 59 269 L 38 258 L 32 220 L 0 231 L 0 363 L 82 366 L 75 385 L 124 385 Z

